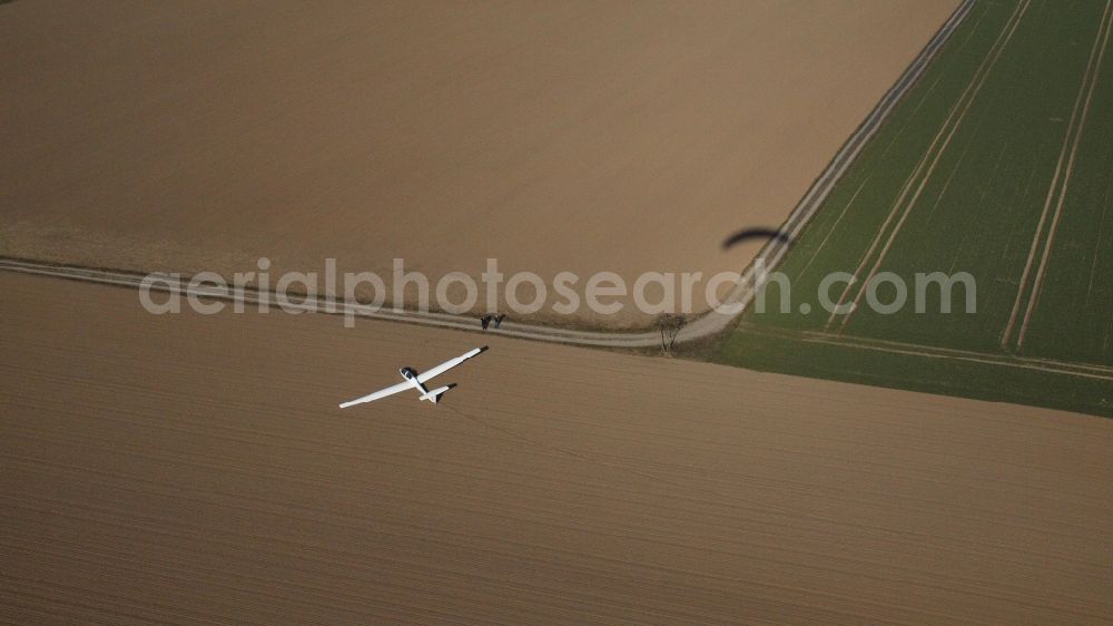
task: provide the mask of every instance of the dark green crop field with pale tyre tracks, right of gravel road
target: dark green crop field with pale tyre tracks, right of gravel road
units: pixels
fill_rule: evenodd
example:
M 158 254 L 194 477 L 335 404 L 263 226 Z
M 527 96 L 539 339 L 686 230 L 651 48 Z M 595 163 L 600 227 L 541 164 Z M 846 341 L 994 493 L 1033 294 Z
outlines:
M 975 4 L 717 360 L 1113 414 L 1111 26 L 1110 1 Z M 936 272 L 968 274 L 949 313 L 917 293 Z

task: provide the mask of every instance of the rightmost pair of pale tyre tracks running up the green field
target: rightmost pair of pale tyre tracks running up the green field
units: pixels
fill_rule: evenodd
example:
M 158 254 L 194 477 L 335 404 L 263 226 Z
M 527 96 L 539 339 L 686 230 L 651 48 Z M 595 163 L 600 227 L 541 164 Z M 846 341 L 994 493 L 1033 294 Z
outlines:
M 1058 163 L 1055 165 L 1055 176 L 1052 178 L 1051 187 L 1047 189 L 1047 198 L 1044 200 L 1043 213 L 1040 215 L 1040 224 L 1036 226 L 1036 233 L 1032 239 L 1032 248 L 1028 251 L 1028 258 L 1024 265 L 1024 274 L 1021 277 L 1021 286 L 1016 292 L 1016 301 L 1013 303 L 1013 311 L 1008 316 L 1008 324 L 1005 326 L 1005 332 L 1002 336 L 1001 343 L 1003 348 L 1007 348 L 1013 333 L 1013 327 L 1016 324 L 1016 316 L 1020 312 L 1021 301 L 1023 300 L 1025 291 L 1024 287 L 1027 284 L 1028 273 L 1032 270 L 1032 263 L 1036 248 L 1038 247 L 1040 235 L 1043 232 L 1044 222 L 1047 219 L 1047 209 L 1051 207 L 1052 198 L 1055 197 L 1055 209 L 1052 213 L 1051 227 L 1047 231 L 1046 238 L 1044 239 L 1043 251 L 1040 254 L 1040 267 L 1036 271 L 1035 282 L 1032 285 L 1032 293 L 1028 295 L 1028 304 L 1024 311 L 1024 320 L 1021 322 L 1021 331 L 1016 338 L 1017 350 L 1021 350 L 1024 346 L 1024 338 L 1028 332 L 1028 323 L 1032 321 L 1032 312 L 1035 310 L 1036 303 L 1040 300 L 1040 291 L 1043 286 L 1044 274 L 1047 270 L 1047 260 L 1051 257 L 1051 247 L 1055 239 L 1055 233 L 1058 229 L 1058 222 L 1063 217 L 1063 204 L 1066 202 L 1066 192 L 1071 185 L 1071 176 L 1074 174 L 1074 160 L 1078 154 L 1078 145 L 1082 144 L 1082 133 L 1086 127 L 1086 118 L 1090 115 L 1090 105 L 1093 101 L 1097 79 L 1101 77 L 1102 61 L 1105 59 L 1105 50 L 1110 39 L 1110 26 L 1113 23 L 1113 12 L 1110 11 L 1111 7 L 1113 7 L 1113 1 L 1107 0 L 1105 2 L 1105 12 L 1102 14 L 1101 27 L 1097 29 L 1097 38 L 1094 40 L 1094 47 L 1090 50 L 1090 62 L 1086 65 L 1086 72 L 1083 75 L 1082 86 L 1078 88 L 1078 96 L 1074 101 L 1074 109 L 1071 111 L 1071 124 L 1067 126 L 1066 135 L 1063 138 L 1063 148 L 1058 155 Z M 1084 100 L 1083 94 L 1085 94 Z M 1078 108 L 1080 105 L 1082 107 L 1081 116 Z M 1074 130 L 1073 137 L 1071 135 L 1072 128 Z M 1064 172 L 1063 158 L 1066 156 L 1067 147 L 1070 147 L 1071 155 L 1066 162 L 1066 169 Z M 1058 182 L 1061 174 L 1063 176 L 1063 184 L 1058 186 L 1058 193 L 1056 194 L 1056 183 Z

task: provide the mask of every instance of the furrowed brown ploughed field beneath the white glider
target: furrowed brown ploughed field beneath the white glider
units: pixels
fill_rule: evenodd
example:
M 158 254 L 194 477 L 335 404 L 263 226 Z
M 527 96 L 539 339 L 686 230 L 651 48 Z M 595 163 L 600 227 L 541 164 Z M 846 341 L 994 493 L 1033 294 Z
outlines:
M 499 338 L 445 404 L 347 412 L 475 335 L 0 290 L 6 620 L 1113 612 L 1109 420 Z

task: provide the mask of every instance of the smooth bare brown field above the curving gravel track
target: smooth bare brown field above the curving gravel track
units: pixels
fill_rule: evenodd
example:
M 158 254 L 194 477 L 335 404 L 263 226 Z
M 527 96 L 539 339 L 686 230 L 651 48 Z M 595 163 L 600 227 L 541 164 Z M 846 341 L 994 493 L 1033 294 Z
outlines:
M 725 237 L 784 222 L 956 4 L 7 4 L 0 254 L 388 283 L 493 257 L 581 292 L 739 270 L 757 246 Z M 539 317 L 650 321 L 623 302 Z

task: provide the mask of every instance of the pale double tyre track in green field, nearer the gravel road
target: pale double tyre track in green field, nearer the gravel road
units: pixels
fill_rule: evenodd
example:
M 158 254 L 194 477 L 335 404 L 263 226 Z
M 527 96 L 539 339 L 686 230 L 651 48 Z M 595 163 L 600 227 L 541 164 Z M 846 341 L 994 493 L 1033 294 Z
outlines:
M 939 131 L 936 133 L 935 137 L 932 139 L 932 143 L 928 145 L 927 150 L 924 153 L 924 157 L 919 160 L 916 168 L 913 169 L 913 173 L 908 176 L 908 179 L 905 182 L 905 185 L 900 190 L 900 195 L 897 197 L 897 200 L 893 204 L 893 207 L 890 208 L 889 214 L 886 216 L 885 222 L 881 223 L 881 227 L 878 228 L 877 235 L 870 243 L 870 246 L 866 251 L 866 254 L 863 256 L 861 262 L 858 264 L 858 267 L 854 271 L 855 280 L 849 281 L 846 287 L 844 287 L 843 293 L 839 295 L 839 299 L 836 303 L 837 305 L 836 310 L 838 309 L 838 306 L 843 305 L 846 302 L 847 296 L 849 296 L 851 290 L 854 290 L 854 285 L 858 283 L 861 284 L 861 287 L 857 291 L 857 295 L 853 301 L 854 306 L 857 307 L 858 303 L 861 301 L 861 296 L 866 292 L 865 285 L 869 283 L 869 281 L 874 277 L 874 275 L 876 275 L 877 270 L 880 266 L 881 262 L 885 260 L 885 256 L 888 254 L 888 251 L 892 247 L 894 239 L 896 239 L 897 234 L 900 232 L 900 228 L 904 226 L 905 221 L 912 213 L 912 209 L 915 206 L 916 200 L 919 199 L 919 195 L 920 193 L 923 193 L 924 187 L 927 184 L 927 180 L 930 179 L 932 174 L 935 170 L 936 165 L 938 165 L 939 159 L 943 157 L 944 151 L 946 151 L 946 148 L 951 144 L 951 140 L 954 138 L 954 135 L 957 131 L 958 127 L 965 120 L 966 115 L 969 113 L 971 105 L 974 102 L 975 98 L 977 97 L 977 94 L 982 90 L 982 87 L 985 85 L 986 78 L 989 76 L 994 66 L 996 66 L 997 60 L 1001 58 L 1001 55 L 1004 51 L 1005 47 L 1008 45 L 1008 41 L 1013 38 L 1013 35 L 1016 32 L 1016 27 L 1020 25 L 1024 14 L 1027 12 L 1030 4 L 1031 0 L 1024 0 L 1023 2 L 1016 6 L 1016 9 L 1014 9 L 1013 14 L 1009 16 L 1008 21 L 1005 22 L 1005 26 L 1002 29 L 1001 33 L 997 36 L 997 39 L 989 48 L 989 52 L 986 55 L 985 59 L 982 60 L 982 63 L 978 66 L 977 71 L 975 71 L 971 82 L 966 86 L 966 89 L 963 90 L 962 95 L 951 107 L 951 110 L 947 114 L 947 118 L 939 127 Z M 917 180 L 919 182 L 918 185 L 916 185 Z M 915 192 L 912 194 L 910 199 L 908 199 L 908 202 L 905 203 L 906 198 L 908 198 L 908 195 L 913 190 L 914 186 L 915 186 Z M 889 232 L 888 231 L 889 224 L 893 223 L 894 218 L 896 218 L 898 214 L 900 215 L 900 217 L 897 219 L 896 224 L 893 226 L 893 229 Z M 869 261 L 874 257 L 874 253 L 881 244 L 881 239 L 885 237 L 886 232 L 889 232 L 889 236 L 885 241 L 884 247 L 881 247 L 880 253 L 878 254 L 876 261 L 870 267 L 866 280 L 858 281 L 857 280 L 858 276 L 863 273 L 863 271 L 865 271 L 866 266 L 869 264 Z M 847 313 L 846 315 L 843 316 L 843 320 L 838 326 L 839 333 L 841 333 L 843 330 L 846 327 L 853 314 L 854 312 L 851 311 L 850 313 Z M 827 317 L 827 323 L 824 326 L 825 330 L 830 330 L 831 325 L 835 323 L 836 316 L 837 313 L 833 311 L 831 314 Z

